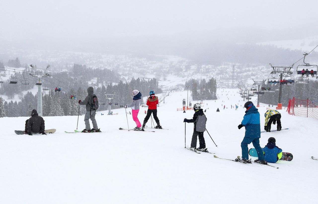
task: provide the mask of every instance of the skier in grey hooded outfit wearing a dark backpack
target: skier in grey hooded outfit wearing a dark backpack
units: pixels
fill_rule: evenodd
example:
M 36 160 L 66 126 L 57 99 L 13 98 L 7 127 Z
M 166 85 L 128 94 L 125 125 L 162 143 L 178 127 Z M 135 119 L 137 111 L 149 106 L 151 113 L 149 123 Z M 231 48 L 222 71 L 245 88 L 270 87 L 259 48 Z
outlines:
M 97 122 L 95 120 L 96 110 L 98 109 L 98 100 L 96 95 L 94 94 L 94 88 L 88 87 L 87 88 L 87 96 L 84 101 L 79 100 L 79 105 L 86 105 L 86 114 L 84 117 L 85 122 L 85 129 L 83 132 L 100 132 L 98 129 Z M 89 124 L 89 119 L 91 119 L 93 123 L 93 129 Z

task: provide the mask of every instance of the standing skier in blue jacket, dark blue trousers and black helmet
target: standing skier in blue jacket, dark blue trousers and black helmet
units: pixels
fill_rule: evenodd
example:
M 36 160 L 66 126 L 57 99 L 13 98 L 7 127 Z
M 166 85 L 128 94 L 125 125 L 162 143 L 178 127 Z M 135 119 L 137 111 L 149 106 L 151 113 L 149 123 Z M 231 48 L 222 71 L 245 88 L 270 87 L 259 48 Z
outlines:
M 258 159 L 254 162 L 258 162 L 261 164 L 267 164 L 264 158 L 264 154 L 262 148 L 259 146 L 259 138 L 260 138 L 260 119 L 258 109 L 255 108 L 254 104 L 251 101 L 248 101 L 244 104 L 244 108 L 246 108 L 244 118 L 239 124 L 238 128 L 241 129 L 245 127 L 245 136 L 243 141 L 241 142 L 242 148 L 242 159 L 245 162 L 249 162 L 248 160 L 248 144 L 253 144 L 256 149 Z

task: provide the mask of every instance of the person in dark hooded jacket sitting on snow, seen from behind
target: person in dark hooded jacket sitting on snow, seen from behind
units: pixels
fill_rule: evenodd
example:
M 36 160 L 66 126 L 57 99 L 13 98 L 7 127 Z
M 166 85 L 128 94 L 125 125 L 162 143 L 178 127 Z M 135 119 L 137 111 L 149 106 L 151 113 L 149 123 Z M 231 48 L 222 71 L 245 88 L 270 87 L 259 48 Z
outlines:
M 25 132 L 26 134 L 32 135 L 32 133 L 42 133 L 42 135 L 46 135 L 44 132 L 44 120 L 38 115 L 36 109 L 32 110 L 31 118 L 26 120 L 25 123 L 27 123 L 27 130 Z

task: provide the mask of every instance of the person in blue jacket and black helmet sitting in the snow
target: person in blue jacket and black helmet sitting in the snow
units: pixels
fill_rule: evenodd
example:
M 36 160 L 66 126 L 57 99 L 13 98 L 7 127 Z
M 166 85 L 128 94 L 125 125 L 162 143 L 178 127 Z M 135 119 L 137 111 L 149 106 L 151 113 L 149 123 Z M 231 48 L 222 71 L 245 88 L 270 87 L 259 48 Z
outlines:
M 282 156 L 282 149 L 276 146 L 276 139 L 268 138 L 267 145 L 263 148 L 265 160 L 269 163 L 276 163 Z

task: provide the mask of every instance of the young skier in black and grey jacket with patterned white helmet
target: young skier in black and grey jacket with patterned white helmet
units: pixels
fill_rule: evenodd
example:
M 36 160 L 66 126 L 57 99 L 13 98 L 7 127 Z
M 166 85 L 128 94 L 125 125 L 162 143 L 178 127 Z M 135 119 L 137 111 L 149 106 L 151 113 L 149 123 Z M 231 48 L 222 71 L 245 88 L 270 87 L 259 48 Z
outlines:
M 208 149 L 205 148 L 205 140 L 203 137 L 203 133 L 205 131 L 205 123 L 206 123 L 206 117 L 204 115 L 203 109 L 201 109 L 200 103 L 196 103 L 193 106 L 194 115 L 192 119 L 186 119 L 184 118 L 183 122 L 193 122 L 194 123 L 194 129 L 193 129 L 193 135 L 192 135 L 192 141 L 191 141 L 191 147 L 190 150 L 196 151 L 197 147 L 197 136 L 199 135 L 199 144 L 200 147 L 197 148 L 199 151 L 205 151 L 207 152 Z

